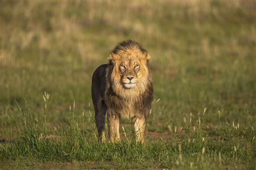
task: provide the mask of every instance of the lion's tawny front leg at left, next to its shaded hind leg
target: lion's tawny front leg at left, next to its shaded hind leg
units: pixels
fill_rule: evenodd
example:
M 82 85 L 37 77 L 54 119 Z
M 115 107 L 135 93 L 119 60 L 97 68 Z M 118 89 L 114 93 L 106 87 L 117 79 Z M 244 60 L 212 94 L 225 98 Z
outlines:
M 117 114 L 113 114 L 112 112 L 107 112 L 107 121 L 109 125 L 109 139 L 111 143 L 120 140 L 119 134 L 119 116 Z

